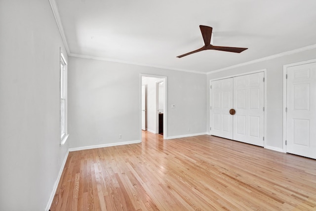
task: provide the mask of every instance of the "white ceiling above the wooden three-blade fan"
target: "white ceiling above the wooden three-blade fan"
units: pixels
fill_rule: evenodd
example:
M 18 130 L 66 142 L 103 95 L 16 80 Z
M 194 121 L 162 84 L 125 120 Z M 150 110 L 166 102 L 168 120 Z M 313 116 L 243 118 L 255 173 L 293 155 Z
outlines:
M 70 55 L 210 72 L 316 46 L 316 0 L 56 0 Z M 213 27 L 205 50 L 199 25 Z

